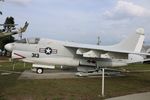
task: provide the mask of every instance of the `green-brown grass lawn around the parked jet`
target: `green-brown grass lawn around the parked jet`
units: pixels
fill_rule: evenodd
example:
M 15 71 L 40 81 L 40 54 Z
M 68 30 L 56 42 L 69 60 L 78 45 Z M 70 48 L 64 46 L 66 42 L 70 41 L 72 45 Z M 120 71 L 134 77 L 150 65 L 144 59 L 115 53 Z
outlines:
M 12 63 L 0 63 L 0 70 L 12 70 Z M 15 71 L 30 69 L 17 63 Z M 148 64 L 124 67 L 150 70 Z M 3 73 L 0 71 L 0 74 Z M 105 78 L 105 98 L 138 92 L 150 92 L 150 72 L 125 73 L 124 77 Z M 20 74 L 0 75 L 0 100 L 103 100 L 101 78 L 18 80 Z

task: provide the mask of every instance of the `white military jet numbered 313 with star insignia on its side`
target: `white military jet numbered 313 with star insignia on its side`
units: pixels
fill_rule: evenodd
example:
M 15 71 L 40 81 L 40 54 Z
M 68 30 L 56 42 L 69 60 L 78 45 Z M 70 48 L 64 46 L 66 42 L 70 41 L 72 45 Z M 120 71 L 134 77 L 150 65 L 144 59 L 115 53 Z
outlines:
M 58 65 L 75 66 L 78 71 L 88 72 L 142 62 L 141 55 L 149 55 L 141 53 L 144 37 L 144 29 L 139 28 L 128 38 L 111 46 L 27 38 L 7 44 L 5 48 L 12 52 L 12 59 L 32 63 L 37 73 Z M 129 59 L 129 54 L 134 56 Z

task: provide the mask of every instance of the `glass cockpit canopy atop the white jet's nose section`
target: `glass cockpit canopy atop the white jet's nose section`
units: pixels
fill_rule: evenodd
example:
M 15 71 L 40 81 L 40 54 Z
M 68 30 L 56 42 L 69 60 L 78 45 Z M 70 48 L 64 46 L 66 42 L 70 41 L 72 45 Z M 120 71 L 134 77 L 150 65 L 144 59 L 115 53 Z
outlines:
M 39 41 L 40 41 L 40 38 L 24 38 L 24 39 L 16 41 L 16 43 L 38 44 Z

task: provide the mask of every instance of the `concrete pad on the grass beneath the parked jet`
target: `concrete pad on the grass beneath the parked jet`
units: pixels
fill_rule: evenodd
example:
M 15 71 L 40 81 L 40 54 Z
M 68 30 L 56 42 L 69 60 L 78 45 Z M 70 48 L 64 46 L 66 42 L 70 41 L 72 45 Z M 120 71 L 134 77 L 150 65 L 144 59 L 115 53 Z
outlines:
M 31 70 L 25 70 L 22 72 L 20 77 L 18 79 L 63 79 L 63 78 L 83 78 L 83 77 L 88 77 L 88 78 L 94 78 L 94 77 L 101 77 L 101 74 L 99 75 L 91 75 L 90 73 L 89 76 L 77 76 L 77 71 L 76 70 L 44 70 L 43 74 L 37 74 Z M 124 75 L 121 74 L 116 74 L 116 75 L 105 75 L 105 77 L 122 77 Z

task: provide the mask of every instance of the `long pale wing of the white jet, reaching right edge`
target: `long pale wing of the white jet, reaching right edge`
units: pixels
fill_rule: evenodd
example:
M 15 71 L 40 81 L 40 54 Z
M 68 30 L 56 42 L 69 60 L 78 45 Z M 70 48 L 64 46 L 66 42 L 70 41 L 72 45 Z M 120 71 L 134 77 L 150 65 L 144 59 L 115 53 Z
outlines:
M 121 48 L 118 49 L 115 46 L 99 46 L 89 44 L 78 44 L 73 42 L 66 42 L 64 46 L 67 48 L 75 48 L 76 54 L 83 54 L 83 56 L 85 54 L 85 57 L 86 55 L 100 55 L 106 53 L 150 55 L 149 53 L 139 53 L 134 51 L 123 50 Z

